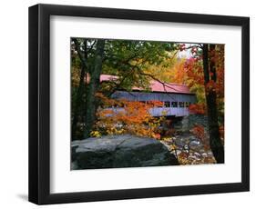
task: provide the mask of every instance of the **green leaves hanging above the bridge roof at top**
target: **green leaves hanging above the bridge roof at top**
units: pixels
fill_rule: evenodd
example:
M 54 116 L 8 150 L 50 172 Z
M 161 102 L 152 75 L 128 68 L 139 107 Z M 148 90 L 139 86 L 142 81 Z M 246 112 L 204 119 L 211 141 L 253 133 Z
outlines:
M 160 65 L 169 57 L 172 43 L 132 40 L 107 40 L 102 74 L 118 75 L 118 87 L 148 88 L 150 78 L 141 75 L 151 65 Z M 166 65 L 166 64 L 165 64 Z

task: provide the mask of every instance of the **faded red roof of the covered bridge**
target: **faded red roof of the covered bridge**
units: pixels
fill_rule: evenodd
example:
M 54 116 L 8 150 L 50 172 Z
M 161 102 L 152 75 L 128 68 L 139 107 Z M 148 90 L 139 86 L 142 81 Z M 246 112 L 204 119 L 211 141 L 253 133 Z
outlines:
M 100 75 L 100 82 L 103 81 L 115 81 L 118 79 L 116 75 Z M 164 83 L 157 80 L 152 80 L 150 82 L 150 88 L 152 92 L 162 92 L 162 93 L 175 93 L 175 94 L 191 94 L 189 87 L 187 85 L 179 85 L 174 83 Z M 143 89 L 138 87 L 133 87 L 132 90 L 143 91 Z

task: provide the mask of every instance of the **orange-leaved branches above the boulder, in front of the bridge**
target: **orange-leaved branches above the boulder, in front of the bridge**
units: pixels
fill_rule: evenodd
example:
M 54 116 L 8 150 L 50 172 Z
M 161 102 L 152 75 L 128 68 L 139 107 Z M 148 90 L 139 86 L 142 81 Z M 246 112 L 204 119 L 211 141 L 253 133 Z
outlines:
M 154 106 L 162 106 L 162 102 L 115 100 L 102 94 L 101 107 L 97 109 L 97 123 L 92 133 L 100 134 L 136 134 L 156 139 L 160 138 L 159 125 L 164 119 L 155 118 L 149 114 L 149 109 Z

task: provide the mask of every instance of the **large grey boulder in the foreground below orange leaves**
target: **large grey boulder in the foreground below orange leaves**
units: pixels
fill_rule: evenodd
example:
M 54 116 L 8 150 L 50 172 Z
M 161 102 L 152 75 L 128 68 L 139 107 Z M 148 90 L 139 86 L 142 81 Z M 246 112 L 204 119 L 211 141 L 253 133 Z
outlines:
M 135 135 L 107 135 L 74 141 L 72 169 L 176 165 L 178 160 L 159 141 Z

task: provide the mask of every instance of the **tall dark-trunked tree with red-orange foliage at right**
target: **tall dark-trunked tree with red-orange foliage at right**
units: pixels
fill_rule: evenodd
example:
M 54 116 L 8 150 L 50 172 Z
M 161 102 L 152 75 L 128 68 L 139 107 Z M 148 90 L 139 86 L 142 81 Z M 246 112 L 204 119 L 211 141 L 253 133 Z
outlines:
M 189 110 L 196 114 L 208 114 L 210 148 L 217 163 L 224 163 L 224 147 L 220 140 L 219 122 L 223 123 L 224 112 L 224 45 L 179 45 L 186 50 L 187 59 L 182 75 L 190 91 L 196 93 L 197 104 Z M 179 78 L 179 77 L 178 77 Z M 177 76 L 171 82 L 179 82 Z

